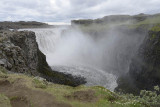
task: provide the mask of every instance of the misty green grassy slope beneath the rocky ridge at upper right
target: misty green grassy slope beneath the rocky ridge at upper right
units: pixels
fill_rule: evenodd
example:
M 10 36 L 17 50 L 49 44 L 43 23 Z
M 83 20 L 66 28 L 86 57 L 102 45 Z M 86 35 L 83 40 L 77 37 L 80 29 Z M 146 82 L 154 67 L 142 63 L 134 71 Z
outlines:
M 106 32 L 109 31 L 110 28 L 116 26 L 126 26 L 129 29 L 143 28 L 150 30 L 153 26 L 160 25 L 160 15 L 148 17 L 142 21 L 121 21 L 121 22 L 110 22 L 110 23 L 101 23 L 101 24 L 90 24 L 90 25 L 78 25 L 79 28 L 86 33 L 90 32 Z M 160 31 L 159 27 L 154 27 L 154 31 Z

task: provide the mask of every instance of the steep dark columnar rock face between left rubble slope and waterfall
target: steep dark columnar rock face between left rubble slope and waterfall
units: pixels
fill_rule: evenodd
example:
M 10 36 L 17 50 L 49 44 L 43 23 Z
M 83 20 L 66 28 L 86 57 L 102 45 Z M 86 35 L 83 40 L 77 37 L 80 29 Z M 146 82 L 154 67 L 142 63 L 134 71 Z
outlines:
M 10 35 L 10 40 L 11 43 L 23 50 L 23 56 L 26 58 L 26 65 L 29 67 L 32 74 L 36 74 L 39 62 L 37 55 L 39 54 L 39 49 L 36 42 L 35 33 L 27 31 L 14 32 Z M 41 56 L 43 55 L 41 54 Z M 44 62 L 46 61 L 44 60 Z

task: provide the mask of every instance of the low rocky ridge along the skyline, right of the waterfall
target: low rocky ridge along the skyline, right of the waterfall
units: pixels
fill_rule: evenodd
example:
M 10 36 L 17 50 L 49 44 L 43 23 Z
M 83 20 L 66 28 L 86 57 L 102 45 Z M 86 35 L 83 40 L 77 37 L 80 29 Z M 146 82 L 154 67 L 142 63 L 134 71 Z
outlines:
M 71 24 L 74 25 L 90 25 L 90 24 L 112 24 L 112 23 L 125 23 L 130 21 L 131 23 L 139 23 L 143 21 L 145 23 L 155 22 L 160 23 L 160 14 L 148 15 L 148 14 L 138 14 L 138 15 L 110 15 L 98 19 L 79 19 L 72 20 Z M 145 24 L 144 23 L 144 24 Z

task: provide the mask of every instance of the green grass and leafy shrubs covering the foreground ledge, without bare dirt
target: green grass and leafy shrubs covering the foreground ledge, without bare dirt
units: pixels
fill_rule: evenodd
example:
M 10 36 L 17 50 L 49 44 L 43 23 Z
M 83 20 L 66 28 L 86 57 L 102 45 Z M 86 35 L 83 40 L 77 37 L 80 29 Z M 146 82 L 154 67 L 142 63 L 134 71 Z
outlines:
M 18 87 L 27 87 L 27 91 L 35 91 L 32 93 L 44 93 L 50 94 L 56 98 L 57 102 L 64 104 L 69 104 L 73 107 L 154 107 L 160 106 L 160 95 L 157 94 L 160 92 L 158 86 L 154 87 L 154 91 L 142 90 L 139 96 L 134 96 L 133 94 L 122 94 L 114 93 L 107 90 L 101 86 L 78 86 L 70 87 L 65 85 L 53 84 L 45 81 L 39 77 L 29 77 L 22 74 L 5 74 L 2 72 L 4 68 L 0 69 L 0 88 L 1 85 L 6 86 L 18 86 Z M 4 75 L 6 76 L 4 78 Z M 9 83 L 7 82 L 9 81 Z M 11 85 L 12 84 L 12 85 Z M 7 88 L 7 87 L 6 87 Z M 22 88 L 23 91 L 25 88 Z M 0 91 L 1 92 L 1 91 Z M 25 92 L 25 91 L 24 91 Z M 23 94 L 19 96 L 17 94 L 10 96 L 8 94 L 1 92 L 0 94 L 0 104 L 5 104 L 10 107 L 12 103 L 16 102 L 25 102 L 26 104 L 36 106 L 34 104 L 35 99 L 32 99 L 33 96 L 28 96 Z M 12 92 L 10 92 L 12 93 Z M 27 97 L 26 97 L 27 96 Z M 50 97 L 51 97 L 50 96 Z M 41 98 L 39 98 L 40 100 Z M 43 99 L 43 97 L 42 97 Z M 10 104 L 11 102 L 11 104 Z M 31 103 L 32 102 L 32 103 Z M 1 105 L 0 105 L 1 106 Z M 3 107 L 3 106 L 2 106 Z

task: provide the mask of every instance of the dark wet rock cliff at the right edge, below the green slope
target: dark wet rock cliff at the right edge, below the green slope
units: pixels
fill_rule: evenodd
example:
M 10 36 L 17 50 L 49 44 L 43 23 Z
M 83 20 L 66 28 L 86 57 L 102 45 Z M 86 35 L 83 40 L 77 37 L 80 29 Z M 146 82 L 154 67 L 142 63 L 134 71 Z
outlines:
M 154 86 L 160 86 L 160 31 L 148 32 L 131 61 L 129 72 L 120 77 L 118 83 L 117 89 L 135 94 L 142 89 L 152 90 Z

